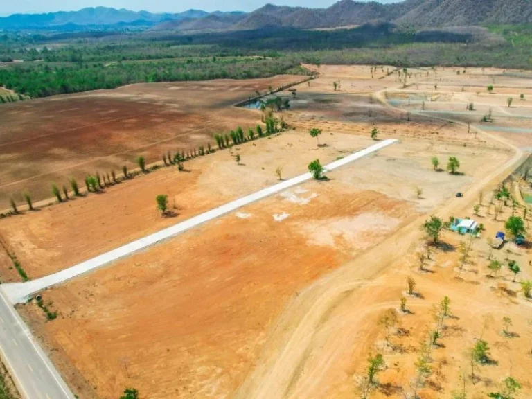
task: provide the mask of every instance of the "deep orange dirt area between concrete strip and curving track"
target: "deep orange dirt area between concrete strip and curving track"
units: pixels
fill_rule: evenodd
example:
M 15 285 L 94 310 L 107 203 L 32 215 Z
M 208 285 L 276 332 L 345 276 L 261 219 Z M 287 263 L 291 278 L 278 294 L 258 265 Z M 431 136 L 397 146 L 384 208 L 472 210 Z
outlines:
M 307 205 L 272 198 L 249 206 L 248 219 L 229 215 L 46 292 L 62 316 L 46 323 L 34 308 L 33 317 L 100 398 L 126 386 L 152 398 L 227 396 L 294 292 L 415 214 L 378 193 L 344 193 L 339 182 L 303 188 L 301 197 L 317 195 Z M 276 222 L 276 213 L 290 217 Z M 312 225 L 360 236 L 321 238 Z

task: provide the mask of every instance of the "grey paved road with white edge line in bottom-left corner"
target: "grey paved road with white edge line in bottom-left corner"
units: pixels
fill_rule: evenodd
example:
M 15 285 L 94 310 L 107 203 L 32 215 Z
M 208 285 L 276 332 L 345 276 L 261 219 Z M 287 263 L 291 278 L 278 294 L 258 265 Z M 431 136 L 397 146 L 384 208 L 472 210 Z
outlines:
M 25 399 L 74 399 L 28 326 L 0 289 L 0 350 L 12 379 Z

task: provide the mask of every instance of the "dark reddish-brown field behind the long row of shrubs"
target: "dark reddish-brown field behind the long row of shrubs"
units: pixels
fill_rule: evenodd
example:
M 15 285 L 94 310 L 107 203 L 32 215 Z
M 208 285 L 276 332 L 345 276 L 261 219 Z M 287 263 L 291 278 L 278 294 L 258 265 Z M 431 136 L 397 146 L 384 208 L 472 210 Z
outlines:
M 258 80 L 138 84 L 56 96 L 0 107 L 0 210 L 9 198 L 23 203 L 51 197 L 51 183 L 80 185 L 87 175 L 136 168 L 135 159 L 160 161 L 168 151 L 213 143 L 213 133 L 255 126 L 245 109 L 229 105 L 270 85 L 301 76 Z

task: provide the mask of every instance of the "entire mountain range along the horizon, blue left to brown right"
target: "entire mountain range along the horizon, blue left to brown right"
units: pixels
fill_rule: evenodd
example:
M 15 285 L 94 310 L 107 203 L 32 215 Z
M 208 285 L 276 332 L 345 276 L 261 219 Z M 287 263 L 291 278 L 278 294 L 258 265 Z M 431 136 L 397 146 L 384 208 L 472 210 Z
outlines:
M 0 29 L 55 29 L 67 26 L 142 26 L 152 30 L 255 30 L 268 27 L 336 28 L 387 21 L 416 27 L 530 24 L 532 0 L 405 0 L 378 3 L 341 0 L 329 8 L 267 4 L 253 12 L 188 10 L 171 14 L 114 8 L 15 14 L 0 18 Z

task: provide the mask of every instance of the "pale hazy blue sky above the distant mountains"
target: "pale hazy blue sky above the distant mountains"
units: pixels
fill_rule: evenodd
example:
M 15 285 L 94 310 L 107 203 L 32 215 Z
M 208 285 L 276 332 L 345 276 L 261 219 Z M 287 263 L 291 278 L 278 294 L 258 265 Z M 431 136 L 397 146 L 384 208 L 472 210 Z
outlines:
M 328 7 L 337 0 L 0 0 L 0 14 L 16 12 L 71 11 L 84 7 L 107 6 L 128 10 L 148 10 L 151 12 L 181 12 L 189 8 L 206 11 L 251 11 L 273 3 L 286 6 Z M 364 1 L 364 0 L 362 0 Z M 382 3 L 389 0 L 380 0 Z M 393 0 L 392 0 L 393 1 Z

